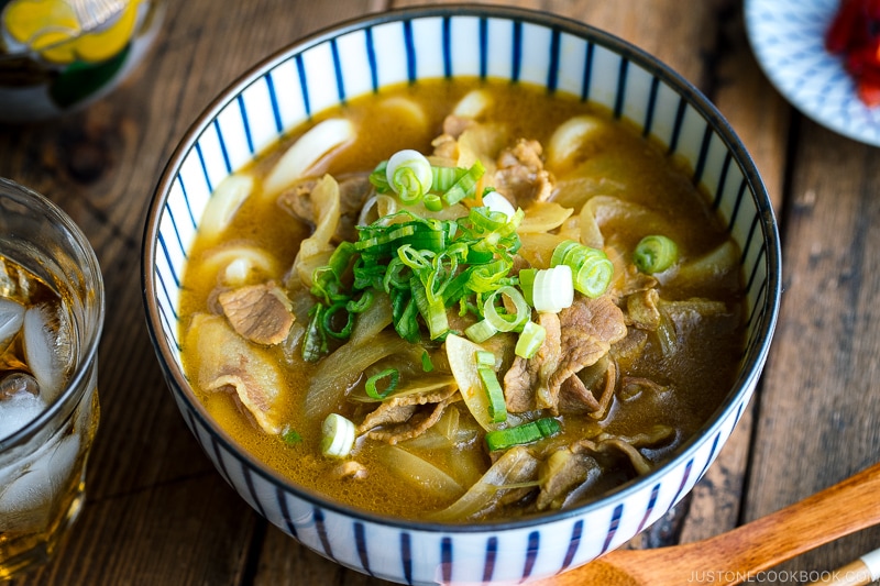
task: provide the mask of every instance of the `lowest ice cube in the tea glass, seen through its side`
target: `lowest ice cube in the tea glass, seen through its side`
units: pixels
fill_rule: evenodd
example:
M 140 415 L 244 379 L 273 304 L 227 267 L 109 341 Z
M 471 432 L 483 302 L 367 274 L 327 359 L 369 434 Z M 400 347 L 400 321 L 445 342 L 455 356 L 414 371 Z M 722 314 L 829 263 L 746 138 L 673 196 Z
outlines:
M 0 488 L 0 532 L 42 522 L 52 500 L 66 488 L 78 453 L 79 435 L 67 435 L 50 450 L 41 450 L 41 457 Z

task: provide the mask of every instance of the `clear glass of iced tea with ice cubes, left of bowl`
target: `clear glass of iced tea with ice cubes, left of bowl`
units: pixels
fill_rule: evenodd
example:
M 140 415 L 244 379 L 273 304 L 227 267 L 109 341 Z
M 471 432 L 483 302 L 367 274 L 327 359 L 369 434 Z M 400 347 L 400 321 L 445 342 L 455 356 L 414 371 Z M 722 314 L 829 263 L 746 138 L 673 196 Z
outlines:
M 48 561 L 82 506 L 102 325 L 81 231 L 0 178 L 0 579 Z

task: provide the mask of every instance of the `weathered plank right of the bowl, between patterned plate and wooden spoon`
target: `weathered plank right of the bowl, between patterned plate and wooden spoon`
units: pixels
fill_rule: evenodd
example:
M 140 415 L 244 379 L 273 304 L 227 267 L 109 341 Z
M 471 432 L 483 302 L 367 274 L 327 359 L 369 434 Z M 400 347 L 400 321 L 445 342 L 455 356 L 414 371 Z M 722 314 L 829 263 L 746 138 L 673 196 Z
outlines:
M 880 246 L 880 152 L 805 119 L 798 130 L 798 172 L 782 219 L 785 292 L 760 398 L 747 518 L 867 467 L 880 444 L 880 264 L 872 254 Z M 870 551 L 877 535 L 851 538 L 845 551 Z M 834 551 L 787 567 L 850 561 Z

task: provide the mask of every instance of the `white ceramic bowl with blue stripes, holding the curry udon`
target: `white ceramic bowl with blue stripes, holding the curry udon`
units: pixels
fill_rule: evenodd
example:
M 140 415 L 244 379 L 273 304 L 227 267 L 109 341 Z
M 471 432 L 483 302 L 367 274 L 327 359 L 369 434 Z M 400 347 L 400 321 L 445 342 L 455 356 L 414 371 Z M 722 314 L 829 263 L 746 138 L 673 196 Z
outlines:
M 383 518 L 292 486 L 244 453 L 194 397 L 180 368 L 178 295 L 211 191 L 311 114 L 383 86 L 481 76 L 600 102 L 690 162 L 694 184 L 743 251 L 748 347 L 724 405 L 656 472 L 575 510 L 493 524 Z M 584 564 L 660 519 L 706 472 L 758 382 L 776 325 L 780 252 L 773 212 L 743 144 L 695 88 L 641 51 L 571 20 L 512 8 L 394 11 L 317 33 L 263 62 L 186 133 L 156 189 L 144 235 L 150 332 L 186 423 L 227 482 L 300 543 L 404 584 L 519 583 Z

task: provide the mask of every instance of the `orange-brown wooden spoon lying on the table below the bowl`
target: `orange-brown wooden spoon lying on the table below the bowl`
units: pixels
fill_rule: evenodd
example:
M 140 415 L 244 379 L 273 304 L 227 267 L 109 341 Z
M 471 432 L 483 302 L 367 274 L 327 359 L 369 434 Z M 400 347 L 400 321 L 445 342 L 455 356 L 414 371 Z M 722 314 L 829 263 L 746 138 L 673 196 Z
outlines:
M 727 533 L 653 550 L 616 550 L 537 586 L 740 584 L 779 563 L 880 523 L 880 464 Z

